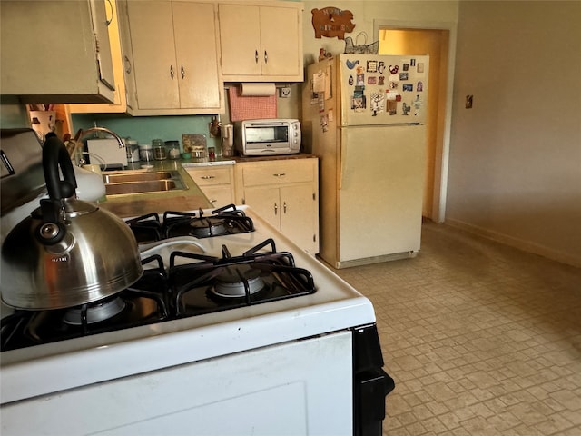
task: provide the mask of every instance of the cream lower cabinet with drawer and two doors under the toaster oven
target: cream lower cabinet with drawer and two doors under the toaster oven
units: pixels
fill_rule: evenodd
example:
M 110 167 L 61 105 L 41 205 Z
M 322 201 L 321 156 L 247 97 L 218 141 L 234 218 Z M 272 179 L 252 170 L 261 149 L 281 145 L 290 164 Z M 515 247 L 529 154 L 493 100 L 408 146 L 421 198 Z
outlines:
M 236 163 L 236 201 L 308 253 L 319 253 L 319 160 Z

